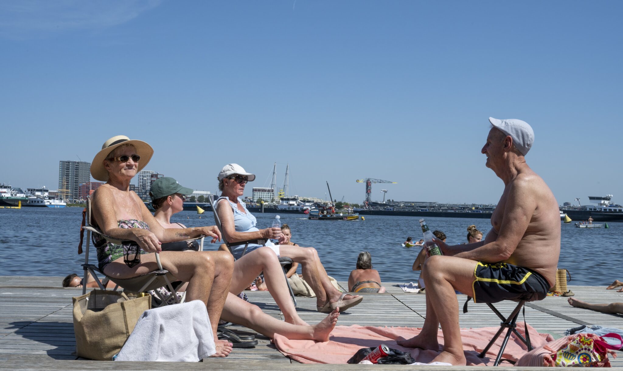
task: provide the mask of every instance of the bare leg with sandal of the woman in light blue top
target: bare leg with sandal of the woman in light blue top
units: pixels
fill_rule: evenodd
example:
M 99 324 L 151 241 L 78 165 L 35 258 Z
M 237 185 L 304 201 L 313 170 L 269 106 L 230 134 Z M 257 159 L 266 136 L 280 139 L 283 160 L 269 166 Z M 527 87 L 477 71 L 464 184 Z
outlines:
M 316 306 L 325 306 L 327 301 L 335 303 L 340 299 L 341 293 L 331 284 L 315 248 L 280 245 L 279 252 L 281 256 L 287 256 L 302 265 L 303 276 L 316 294 Z M 347 294 L 344 300 L 358 296 Z

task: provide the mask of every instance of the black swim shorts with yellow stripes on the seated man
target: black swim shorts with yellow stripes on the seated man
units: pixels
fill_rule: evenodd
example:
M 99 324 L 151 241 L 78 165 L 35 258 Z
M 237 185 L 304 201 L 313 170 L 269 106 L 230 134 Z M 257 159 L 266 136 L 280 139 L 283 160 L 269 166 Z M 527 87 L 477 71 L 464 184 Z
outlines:
M 503 300 L 541 300 L 549 291 L 547 279 L 535 271 L 508 263 L 481 263 L 473 271 L 474 303 Z

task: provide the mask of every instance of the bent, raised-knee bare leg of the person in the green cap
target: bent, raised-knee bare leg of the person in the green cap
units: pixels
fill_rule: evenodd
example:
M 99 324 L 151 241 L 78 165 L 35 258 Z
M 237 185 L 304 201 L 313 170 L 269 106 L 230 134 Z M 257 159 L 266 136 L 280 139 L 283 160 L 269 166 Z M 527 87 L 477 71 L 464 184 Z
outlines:
M 270 294 L 283 312 L 285 322 L 308 326 L 297 314 L 297 309 L 290 298 L 288 284 L 283 275 L 283 268 L 275 252 L 268 247 L 260 247 L 234 263 L 234 273 L 229 292 L 238 294 L 249 286 L 250 283 L 264 271 L 264 281 Z

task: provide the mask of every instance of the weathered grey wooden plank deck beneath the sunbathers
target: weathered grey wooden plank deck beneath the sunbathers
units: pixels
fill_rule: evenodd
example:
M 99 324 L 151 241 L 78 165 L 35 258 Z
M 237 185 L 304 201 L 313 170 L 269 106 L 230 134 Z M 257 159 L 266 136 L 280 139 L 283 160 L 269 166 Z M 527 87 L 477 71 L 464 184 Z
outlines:
M 351 369 L 363 365 L 302 365 L 278 352 L 269 339 L 259 336 L 260 344 L 252 349 L 234 349 L 226 359 L 209 359 L 196 364 L 172 362 L 97 362 L 76 360 L 72 296 L 77 288 L 62 288 L 62 277 L 0 276 L 0 369 Z M 345 287 L 346 283 L 340 283 Z M 366 298 L 356 309 L 340 316 L 341 325 L 421 327 L 426 317 L 425 294 L 403 293 L 397 283 L 384 283 L 385 294 L 364 294 Z M 590 303 L 623 301 L 623 293 L 596 286 L 569 286 L 576 298 Z M 269 293 L 245 291 L 252 303 L 278 319 L 281 313 Z M 298 312 L 309 323 L 320 321 L 326 314 L 316 312 L 315 299 L 299 298 Z M 465 301 L 459 295 L 460 304 Z M 496 305 L 504 314 L 514 303 Z M 379 312 L 379 308 L 383 308 Z M 498 326 L 500 321 L 485 304 L 470 303 L 469 312 L 460 314 L 462 327 Z M 543 301 L 526 304 L 526 321 L 539 332 L 560 337 L 566 329 L 581 324 L 623 329 L 623 316 L 573 308 L 566 298 L 548 296 Z M 244 329 L 242 327 L 232 327 Z M 252 332 L 252 331 L 251 331 Z M 612 366 L 623 367 L 623 357 L 611 360 Z M 374 366 L 370 366 L 374 367 Z M 483 369 L 457 367 L 456 369 Z M 404 366 L 384 366 L 384 369 L 404 369 Z M 418 369 L 439 370 L 438 367 Z

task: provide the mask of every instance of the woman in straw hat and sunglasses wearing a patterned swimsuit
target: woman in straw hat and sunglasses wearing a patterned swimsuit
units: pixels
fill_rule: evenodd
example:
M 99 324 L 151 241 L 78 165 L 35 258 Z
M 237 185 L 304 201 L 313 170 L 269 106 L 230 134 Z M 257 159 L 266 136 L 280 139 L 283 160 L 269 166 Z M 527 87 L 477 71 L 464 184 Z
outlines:
M 99 268 L 105 275 L 131 278 L 158 269 L 155 253 L 159 253 L 164 269 L 180 281 L 188 282 L 186 300 L 206 303 L 212 324 L 216 354 L 226 357 L 232 344 L 217 339 L 217 325 L 227 298 L 234 259 L 222 251 L 202 251 L 186 254 L 181 251 L 161 252 L 161 243 L 186 240 L 206 235 L 212 242 L 221 239 L 218 228 L 163 228 L 151 215 L 143 201 L 130 190 L 130 181 L 150 161 L 153 149 L 143 141 L 118 135 L 108 139 L 93 162 L 91 174 L 106 182 L 91 197 L 93 220 L 103 233 L 120 240 L 134 241 L 142 251 L 115 245 L 100 235 L 94 235 Z M 124 255 L 135 255 L 125 259 Z

